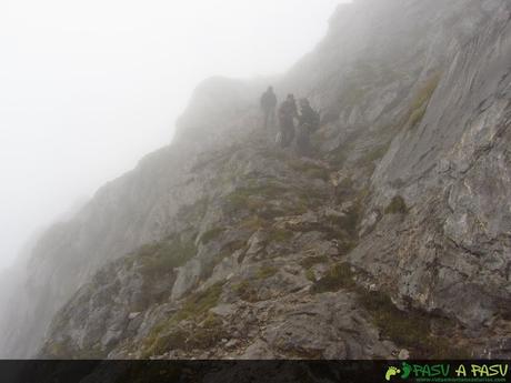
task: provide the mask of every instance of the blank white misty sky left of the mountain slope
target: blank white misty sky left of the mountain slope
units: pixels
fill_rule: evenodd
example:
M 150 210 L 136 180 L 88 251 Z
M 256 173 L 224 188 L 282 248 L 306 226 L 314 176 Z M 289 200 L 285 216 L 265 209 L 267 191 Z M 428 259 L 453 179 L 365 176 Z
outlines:
M 170 142 L 202 79 L 285 71 L 341 0 L 1 0 L 0 269 Z

